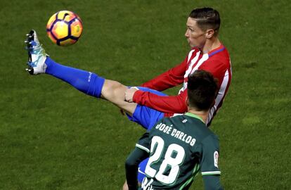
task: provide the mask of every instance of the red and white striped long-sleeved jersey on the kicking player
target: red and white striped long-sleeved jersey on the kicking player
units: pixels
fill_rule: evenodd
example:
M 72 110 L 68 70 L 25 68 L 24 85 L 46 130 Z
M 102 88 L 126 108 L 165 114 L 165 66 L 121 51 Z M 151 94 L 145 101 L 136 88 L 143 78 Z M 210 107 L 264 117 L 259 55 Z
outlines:
M 207 120 L 207 124 L 210 125 L 231 84 L 231 60 L 228 51 L 222 44 L 208 53 L 202 53 L 194 47 L 182 63 L 141 85 L 142 87 L 163 91 L 183 83 L 183 87 L 177 96 L 159 96 L 149 91 L 138 90 L 134 93 L 134 102 L 159 110 L 164 113 L 165 117 L 170 117 L 174 113 L 186 113 L 188 75 L 195 70 L 207 70 L 219 81 L 219 93 Z

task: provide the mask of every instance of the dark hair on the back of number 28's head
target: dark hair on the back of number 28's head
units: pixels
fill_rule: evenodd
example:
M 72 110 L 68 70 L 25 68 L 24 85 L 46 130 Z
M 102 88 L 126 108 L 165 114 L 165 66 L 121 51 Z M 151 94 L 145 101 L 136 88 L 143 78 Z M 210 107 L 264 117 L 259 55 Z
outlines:
M 218 86 L 210 72 L 195 70 L 188 76 L 188 103 L 192 108 L 208 110 L 214 105 Z

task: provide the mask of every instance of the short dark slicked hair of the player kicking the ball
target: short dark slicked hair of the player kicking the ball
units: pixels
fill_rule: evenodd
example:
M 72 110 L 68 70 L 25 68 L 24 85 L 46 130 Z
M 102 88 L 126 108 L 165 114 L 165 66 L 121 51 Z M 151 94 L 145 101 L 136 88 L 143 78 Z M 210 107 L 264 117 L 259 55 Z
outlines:
M 189 17 L 195 18 L 195 20 L 197 20 L 198 27 L 200 27 L 201 30 L 213 29 L 214 36 L 217 36 L 219 33 L 219 12 L 213 8 L 195 8 L 193 11 L 191 11 Z

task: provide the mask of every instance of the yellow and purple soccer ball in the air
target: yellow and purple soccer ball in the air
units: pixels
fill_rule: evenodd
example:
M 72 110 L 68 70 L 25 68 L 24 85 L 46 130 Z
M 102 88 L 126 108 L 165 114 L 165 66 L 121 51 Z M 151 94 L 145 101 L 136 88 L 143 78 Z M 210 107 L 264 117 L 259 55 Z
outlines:
M 49 18 L 46 33 L 59 46 L 75 44 L 83 31 L 82 20 L 72 11 L 58 11 Z

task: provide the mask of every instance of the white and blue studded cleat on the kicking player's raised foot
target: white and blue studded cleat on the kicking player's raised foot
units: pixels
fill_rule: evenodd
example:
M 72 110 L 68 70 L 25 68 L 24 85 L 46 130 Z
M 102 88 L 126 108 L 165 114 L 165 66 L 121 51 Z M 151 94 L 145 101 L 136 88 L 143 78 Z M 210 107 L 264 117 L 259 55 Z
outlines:
M 30 75 L 39 75 L 46 72 L 46 52 L 39 43 L 37 39 L 37 32 L 31 30 L 27 35 L 25 43 L 27 45 L 28 51 L 28 68 L 27 72 L 30 72 Z

